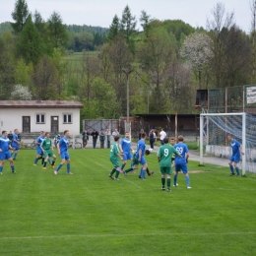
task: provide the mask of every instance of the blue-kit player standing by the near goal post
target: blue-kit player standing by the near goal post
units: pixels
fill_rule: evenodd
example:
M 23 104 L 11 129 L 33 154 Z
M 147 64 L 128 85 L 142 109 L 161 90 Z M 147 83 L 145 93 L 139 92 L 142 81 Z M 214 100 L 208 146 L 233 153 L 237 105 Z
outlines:
M 237 163 L 240 160 L 241 155 L 244 155 L 242 152 L 242 145 L 233 139 L 233 136 L 231 134 L 227 135 L 227 140 L 230 142 L 230 146 L 232 148 L 232 156 L 230 157 L 230 161 L 228 162 L 229 167 L 230 167 L 230 176 L 235 175 L 234 173 L 234 168 L 236 170 L 237 176 L 240 176 L 240 171 L 237 166 Z

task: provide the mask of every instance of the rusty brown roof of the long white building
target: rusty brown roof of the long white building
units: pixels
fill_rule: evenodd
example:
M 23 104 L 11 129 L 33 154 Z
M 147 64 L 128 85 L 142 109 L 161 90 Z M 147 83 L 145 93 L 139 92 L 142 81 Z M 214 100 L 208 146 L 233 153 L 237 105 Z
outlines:
M 0 100 L 0 108 L 83 108 L 75 100 Z

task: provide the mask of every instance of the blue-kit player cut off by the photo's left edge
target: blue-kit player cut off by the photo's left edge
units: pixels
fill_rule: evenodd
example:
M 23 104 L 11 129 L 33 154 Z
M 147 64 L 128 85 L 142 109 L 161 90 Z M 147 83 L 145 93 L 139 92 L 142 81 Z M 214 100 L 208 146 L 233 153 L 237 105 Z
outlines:
M 14 174 L 16 173 L 14 169 L 14 161 L 9 149 L 13 150 L 10 140 L 7 138 L 7 131 L 2 131 L 2 137 L 0 138 L 0 174 L 3 174 L 4 160 L 9 160 L 12 172 Z

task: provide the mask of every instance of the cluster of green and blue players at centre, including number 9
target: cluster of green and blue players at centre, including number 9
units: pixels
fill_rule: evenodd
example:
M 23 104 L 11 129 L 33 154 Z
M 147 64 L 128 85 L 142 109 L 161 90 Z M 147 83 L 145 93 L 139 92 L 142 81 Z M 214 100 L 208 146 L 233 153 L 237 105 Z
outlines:
M 127 175 L 128 172 L 134 171 L 138 168 L 138 165 L 141 164 L 142 168 L 140 170 L 139 178 L 146 179 L 146 173 L 152 175 L 154 171 L 150 171 L 148 168 L 147 161 L 144 156 L 150 154 L 149 150 L 146 150 L 146 133 L 141 134 L 141 140 L 137 144 L 137 150 L 134 151 L 131 147 L 131 136 L 129 132 L 125 133 L 125 137 L 120 140 L 119 136 L 114 137 L 114 143 L 110 147 L 110 161 L 113 164 L 113 169 L 109 173 L 109 178 L 119 180 L 118 176 L 120 172 L 123 172 L 124 175 Z M 177 175 L 178 172 L 182 170 L 185 174 L 187 188 L 190 189 L 190 180 L 187 169 L 188 161 L 188 147 L 183 143 L 183 136 L 178 136 L 178 143 L 174 143 L 174 138 L 170 139 L 170 144 L 168 138 L 163 139 L 163 145 L 160 146 L 158 152 L 158 160 L 160 162 L 160 172 L 161 172 L 161 189 L 165 190 L 165 183 L 167 184 L 166 191 L 170 191 L 170 182 L 171 182 L 171 167 L 175 166 L 174 173 L 174 182 L 173 186 L 178 186 L 177 184 Z M 175 145 L 174 145 L 175 144 Z M 131 154 L 133 153 L 133 155 Z M 175 157 L 173 157 L 175 156 Z M 121 165 L 120 160 L 123 160 Z M 131 160 L 131 167 L 124 170 L 124 166 L 127 163 L 127 160 Z

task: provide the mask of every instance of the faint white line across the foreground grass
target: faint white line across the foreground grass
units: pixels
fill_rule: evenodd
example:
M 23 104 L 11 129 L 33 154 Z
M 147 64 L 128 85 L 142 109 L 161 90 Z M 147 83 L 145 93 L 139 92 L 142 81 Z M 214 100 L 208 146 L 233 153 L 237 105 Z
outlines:
M 65 234 L 65 235 L 39 235 L 39 236 L 10 236 L 10 237 L 0 237 L 0 240 L 8 240 L 8 239 L 52 239 L 52 238 L 72 238 L 72 237 L 123 237 L 123 236 L 153 236 L 153 235 L 243 235 L 243 234 L 256 234 L 256 232 L 202 232 L 202 233 L 195 233 L 195 232 L 184 232 L 184 233 L 125 233 L 125 234 L 118 234 L 118 233 L 106 233 L 106 234 Z

